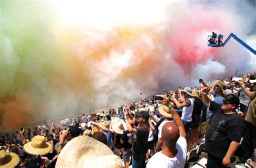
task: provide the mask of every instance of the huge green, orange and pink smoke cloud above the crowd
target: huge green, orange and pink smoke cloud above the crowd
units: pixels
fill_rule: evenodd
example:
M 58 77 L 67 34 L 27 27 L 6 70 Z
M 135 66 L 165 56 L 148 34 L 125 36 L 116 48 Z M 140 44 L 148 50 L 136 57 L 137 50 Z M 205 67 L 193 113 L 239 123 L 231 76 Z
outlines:
M 212 31 L 248 39 L 247 1 L 1 2 L 0 10 L 0 130 L 256 70 L 233 39 L 207 47 Z

